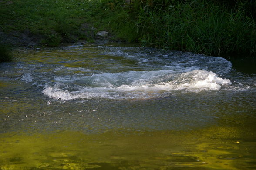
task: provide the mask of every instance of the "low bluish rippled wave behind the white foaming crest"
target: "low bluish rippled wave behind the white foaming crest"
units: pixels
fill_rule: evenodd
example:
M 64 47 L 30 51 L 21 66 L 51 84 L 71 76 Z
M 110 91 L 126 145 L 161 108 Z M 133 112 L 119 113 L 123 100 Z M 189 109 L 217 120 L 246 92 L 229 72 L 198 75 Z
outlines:
M 154 48 L 102 47 L 103 54 L 137 60 L 141 66 L 155 67 L 156 63 L 173 70 L 197 67 L 196 69 L 212 71 L 216 74 L 229 73 L 232 63 L 222 57 L 205 56 L 188 52 L 159 51 Z M 158 65 L 157 64 L 157 65 Z

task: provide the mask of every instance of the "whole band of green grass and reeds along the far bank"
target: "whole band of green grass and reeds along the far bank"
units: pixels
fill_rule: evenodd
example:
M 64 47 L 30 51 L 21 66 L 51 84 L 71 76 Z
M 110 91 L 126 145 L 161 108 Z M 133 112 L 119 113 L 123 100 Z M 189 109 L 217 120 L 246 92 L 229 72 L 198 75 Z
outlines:
M 255 56 L 255 9 L 248 0 L 2 0 L 0 31 L 54 47 L 108 30 L 144 46 Z

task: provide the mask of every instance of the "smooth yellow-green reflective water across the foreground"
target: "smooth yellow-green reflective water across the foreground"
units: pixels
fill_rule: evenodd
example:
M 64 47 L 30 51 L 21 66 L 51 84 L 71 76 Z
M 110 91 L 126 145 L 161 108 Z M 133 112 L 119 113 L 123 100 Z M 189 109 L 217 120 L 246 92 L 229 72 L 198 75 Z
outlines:
M 0 136 L 1 170 L 255 169 L 256 135 L 235 127 L 193 131 L 75 131 Z

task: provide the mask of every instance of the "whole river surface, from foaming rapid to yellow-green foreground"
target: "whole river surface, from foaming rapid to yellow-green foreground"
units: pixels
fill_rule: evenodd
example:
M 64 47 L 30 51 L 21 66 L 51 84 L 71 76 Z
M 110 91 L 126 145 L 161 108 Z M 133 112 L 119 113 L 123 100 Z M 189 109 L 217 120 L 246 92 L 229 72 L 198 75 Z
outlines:
M 14 56 L 0 170 L 256 169 L 255 67 L 114 43 Z

